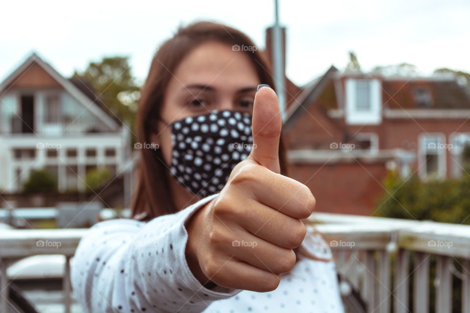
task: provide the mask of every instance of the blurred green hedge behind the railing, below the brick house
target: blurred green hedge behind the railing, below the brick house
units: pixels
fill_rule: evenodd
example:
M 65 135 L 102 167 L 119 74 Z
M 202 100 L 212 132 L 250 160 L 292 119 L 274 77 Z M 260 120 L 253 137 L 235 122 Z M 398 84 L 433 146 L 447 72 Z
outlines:
M 470 173 L 470 167 L 465 168 Z M 387 192 L 378 203 L 377 216 L 470 224 L 470 176 L 458 179 L 401 179 L 389 172 L 383 181 Z

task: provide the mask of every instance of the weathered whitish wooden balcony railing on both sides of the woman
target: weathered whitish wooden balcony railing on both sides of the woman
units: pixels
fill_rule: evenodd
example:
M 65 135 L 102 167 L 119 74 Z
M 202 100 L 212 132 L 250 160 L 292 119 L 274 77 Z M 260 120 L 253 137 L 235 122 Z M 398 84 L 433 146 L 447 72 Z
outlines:
M 428 313 L 431 305 L 438 313 L 452 309 L 470 312 L 470 226 L 314 213 L 307 224 L 309 231 L 313 228 L 323 234 L 338 273 L 347 279 L 340 285 L 343 296 L 357 291 L 367 312 Z M 65 260 L 62 312 L 70 313 L 70 261 L 85 231 L 2 231 L 0 311 L 8 312 L 5 287 L 11 262 L 32 255 L 60 254 Z M 434 262 L 435 273 L 431 270 Z M 453 294 L 453 286 L 458 286 L 461 294 Z M 350 312 L 361 311 L 350 308 Z

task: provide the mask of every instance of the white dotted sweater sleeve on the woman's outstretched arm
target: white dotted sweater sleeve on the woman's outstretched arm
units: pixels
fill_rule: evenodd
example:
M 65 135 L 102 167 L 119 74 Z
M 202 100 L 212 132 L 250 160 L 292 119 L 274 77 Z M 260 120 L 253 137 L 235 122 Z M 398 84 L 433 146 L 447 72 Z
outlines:
M 186 260 L 185 222 L 217 194 L 148 223 L 131 219 L 91 227 L 75 251 L 71 284 L 84 312 L 202 312 L 241 290 L 207 289 Z

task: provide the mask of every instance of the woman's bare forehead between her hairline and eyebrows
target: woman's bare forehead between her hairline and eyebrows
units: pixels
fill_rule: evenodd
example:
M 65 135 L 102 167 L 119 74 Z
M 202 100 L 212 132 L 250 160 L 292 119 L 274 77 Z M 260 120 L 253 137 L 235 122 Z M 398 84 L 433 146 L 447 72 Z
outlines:
M 179 90 L 193 83 L 218 89 L 258 85 L 255 66 L 243 51 L 229 44 L 207 42 L 194 48 L 178 65 L 168 89 Z

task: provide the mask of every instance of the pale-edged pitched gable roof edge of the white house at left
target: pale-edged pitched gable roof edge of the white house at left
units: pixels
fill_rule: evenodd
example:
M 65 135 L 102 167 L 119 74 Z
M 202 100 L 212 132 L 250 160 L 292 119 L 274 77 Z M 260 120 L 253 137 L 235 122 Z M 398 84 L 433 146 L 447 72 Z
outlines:
M 36 53 L 32 53 L 22 65 L 14 70 L 8 77 L 0 83 L 0 92 L 8 90 L 22 74 L 32 67 L 39 66 L 47 74 L 48 78 L 57 83 L 57 86 L 64 88 L 69 94 L 74 97 L 78 103 L 82 104 L 86 110 L 94 114 L 99 120 L 113 130 L 119 129 L 119 123 L 100 107 L 100 100 L 97 97 L 89 97 L 82 90 L 77 88 L 73 83 L 59 74 L 53 67 L 42 60 Z

